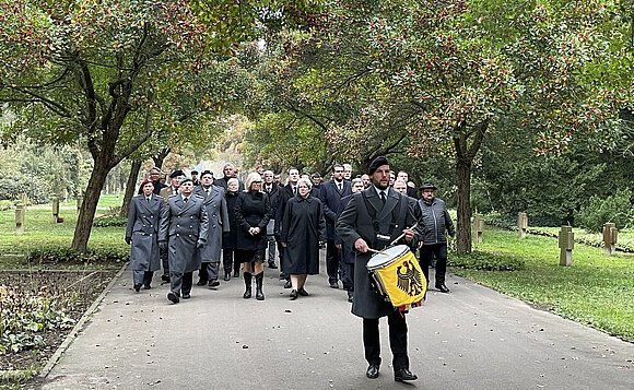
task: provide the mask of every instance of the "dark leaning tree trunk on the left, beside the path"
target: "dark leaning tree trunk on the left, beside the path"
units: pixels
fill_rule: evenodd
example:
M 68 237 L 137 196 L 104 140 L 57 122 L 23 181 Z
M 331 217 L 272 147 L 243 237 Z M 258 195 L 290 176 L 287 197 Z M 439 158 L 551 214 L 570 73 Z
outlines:
M 74 236 L 72 239 L 72 247 L 81 252 L 86 251 L 89 238 L 91 237 L 91 229 L 93 228 L 93 221 L 95 218 L 95 211 L 99 202 L 99 196 L 106 181 L 106 176 L 111 167 L 103 159 L 95 161 L 93 173 L 89 179 L 86 191 L 84 192 L 83 203 L 78 216 L 77 226 L 74 228 Z

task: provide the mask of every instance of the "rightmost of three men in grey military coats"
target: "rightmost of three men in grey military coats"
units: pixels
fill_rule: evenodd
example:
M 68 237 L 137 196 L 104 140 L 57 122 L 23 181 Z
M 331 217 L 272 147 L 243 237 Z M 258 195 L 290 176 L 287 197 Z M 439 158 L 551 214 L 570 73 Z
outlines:
M 198 285 L 202 286 L 209 282 L 210 287 L 218 287 L 218 267 L 222 252 L 222 234 L 228 233 L 228 215 L 226 211 L 226 199 L 221 187 L 213 186 L 213 174 L 211 170 L 202 172 L 200 175 L 201 185 L 193 189 L 193 194 L 203 199 L 207 216 L 209 218 L 209 231 L 207 243 L 200 252 L 200 271 Z M 224 280 L 231 279 L 231 265 L 224 270 Z

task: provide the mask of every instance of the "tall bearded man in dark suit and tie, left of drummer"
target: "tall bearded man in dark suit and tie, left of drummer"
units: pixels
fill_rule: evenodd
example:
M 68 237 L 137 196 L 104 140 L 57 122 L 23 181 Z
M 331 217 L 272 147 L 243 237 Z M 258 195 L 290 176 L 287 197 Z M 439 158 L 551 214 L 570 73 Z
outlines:
M 343 180 L 343 165 L 334 164 L 332 179 L 321 185 L 319 194 L 326 217 L 326 271 L 328 272 L 328 283 L 332 288 L 339 288 L 339 261 L 341 260 L 341 252 L 334 244 L 337 239 L 334 222 L 341 213 L 341 198 L 351 193 L 350 181 Z

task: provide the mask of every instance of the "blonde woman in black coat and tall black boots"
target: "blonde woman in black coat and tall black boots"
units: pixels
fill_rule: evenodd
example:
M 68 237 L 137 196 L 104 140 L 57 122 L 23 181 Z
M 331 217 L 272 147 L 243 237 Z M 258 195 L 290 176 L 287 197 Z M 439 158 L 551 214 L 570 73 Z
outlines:
M 262 283 L 265 279 L 265 250 L 267 248 L 267 224 L 271 218 L 269 197 L 261 192 L 262 178 L 258 173 L 249 174 L 236 201 L 235 216 L 237 222 L 237 250 L 239 262 L 244 263 L 245 294 L 251 297 L 251 262 L 255 263 L 256 299 L 265 300 Z

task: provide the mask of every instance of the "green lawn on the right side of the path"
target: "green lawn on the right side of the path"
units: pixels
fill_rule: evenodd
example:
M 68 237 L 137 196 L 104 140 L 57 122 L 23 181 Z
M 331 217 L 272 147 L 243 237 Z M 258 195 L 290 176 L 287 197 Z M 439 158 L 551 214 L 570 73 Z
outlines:
M 525 239 L 486 227 L 474 249 L 526 259 L 519 271 L 451 272 L 521 300 L 634 341 L 634 255 L 604 256 L 601 248 L 575 245 L 573 265 L 559 265 L 557 240 L 529 235 Z

